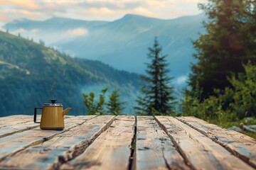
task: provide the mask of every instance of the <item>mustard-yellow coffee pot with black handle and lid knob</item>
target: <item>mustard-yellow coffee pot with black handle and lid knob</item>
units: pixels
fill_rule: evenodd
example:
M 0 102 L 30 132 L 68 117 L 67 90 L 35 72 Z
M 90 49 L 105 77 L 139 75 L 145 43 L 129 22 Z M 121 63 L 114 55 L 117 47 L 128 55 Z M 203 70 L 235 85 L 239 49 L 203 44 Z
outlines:
M 63 111 L 63 105 L 61 103 L 55 103 L 56 99 L 51 99 L 51 103 L 44 103 L 43 107 L 36 107 L 34 110 L 34 123 L 40 123 L 42 130 L 63 130 L 64 115 L 71 110 L 66 108 Z M 36 115 L 38 109 L 43 109 L 41 115 L 41 122 L 36 122 Z

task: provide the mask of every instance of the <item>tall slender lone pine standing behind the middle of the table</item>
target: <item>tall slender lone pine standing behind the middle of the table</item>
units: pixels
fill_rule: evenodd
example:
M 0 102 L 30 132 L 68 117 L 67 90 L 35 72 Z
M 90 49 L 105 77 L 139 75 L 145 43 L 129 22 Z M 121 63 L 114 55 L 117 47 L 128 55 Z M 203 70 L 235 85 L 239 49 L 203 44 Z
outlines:
M 157 38 L 153 47 L 149 47 L 148 58 L 150 63 L 146 64 L 146 75 L 140 79 L 143 81 L 142 95 L 137 98 L 134 107 L 139 115 L 169 115 L 174 106 L 173 87 L 170 85 L 169 69 L 166 67 L 167 55 L 162 55 L 162 48 Z

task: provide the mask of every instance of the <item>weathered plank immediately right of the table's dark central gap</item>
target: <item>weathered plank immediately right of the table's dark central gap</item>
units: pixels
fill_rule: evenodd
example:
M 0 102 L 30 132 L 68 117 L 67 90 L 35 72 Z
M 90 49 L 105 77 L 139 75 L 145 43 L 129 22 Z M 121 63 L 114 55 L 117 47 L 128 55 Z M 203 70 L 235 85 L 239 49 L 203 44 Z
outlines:
M 137 116 L 136 169 L 190 169 L 152 116 Z

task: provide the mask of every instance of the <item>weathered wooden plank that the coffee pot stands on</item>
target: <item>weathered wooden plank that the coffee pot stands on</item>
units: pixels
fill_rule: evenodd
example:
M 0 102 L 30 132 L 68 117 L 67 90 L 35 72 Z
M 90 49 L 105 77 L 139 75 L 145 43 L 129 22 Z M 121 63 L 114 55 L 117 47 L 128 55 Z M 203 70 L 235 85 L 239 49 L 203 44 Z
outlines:
M 94 117 L 95 116 L 76 116 L 69 118 L 65 121 L 64 130 L 41 130 L 40 128 L 35 128 L 2 137 L 0 138 L 0 161 L 4 159 L 4 157 L 15 154 L 27 147 L 38 145 L 50 140 L 55 135 L 66 132 L 71 128 L 75 128 L 75 126 L 85 123 L 85 121 Z

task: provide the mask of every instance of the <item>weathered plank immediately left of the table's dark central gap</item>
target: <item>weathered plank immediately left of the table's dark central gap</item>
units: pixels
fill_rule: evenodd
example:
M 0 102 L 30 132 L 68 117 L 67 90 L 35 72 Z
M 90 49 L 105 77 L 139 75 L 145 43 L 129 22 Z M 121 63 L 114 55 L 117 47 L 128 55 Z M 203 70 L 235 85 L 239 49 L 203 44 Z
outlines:
M 118 116 L 85 152 L 60 169 L 128 169 L 134 116 Z

